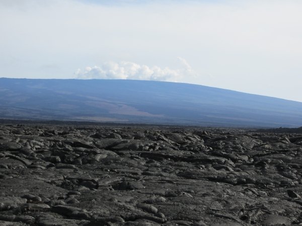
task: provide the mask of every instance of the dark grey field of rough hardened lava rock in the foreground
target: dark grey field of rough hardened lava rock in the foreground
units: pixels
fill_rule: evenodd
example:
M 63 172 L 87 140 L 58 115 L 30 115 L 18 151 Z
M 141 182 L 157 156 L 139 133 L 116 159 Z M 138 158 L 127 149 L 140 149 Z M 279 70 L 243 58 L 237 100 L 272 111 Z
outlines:
M 301 163 L 299 134 L 0 125 L 0 225 L 302 224 Z

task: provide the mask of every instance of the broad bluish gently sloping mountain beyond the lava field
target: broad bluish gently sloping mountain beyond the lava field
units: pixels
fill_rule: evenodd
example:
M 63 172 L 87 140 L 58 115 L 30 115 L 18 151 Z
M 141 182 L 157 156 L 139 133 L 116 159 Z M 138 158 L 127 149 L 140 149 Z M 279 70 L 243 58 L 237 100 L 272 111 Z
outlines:
M 302 102 L 186 83 L 0 78 L 0 118 L 292 128 Z

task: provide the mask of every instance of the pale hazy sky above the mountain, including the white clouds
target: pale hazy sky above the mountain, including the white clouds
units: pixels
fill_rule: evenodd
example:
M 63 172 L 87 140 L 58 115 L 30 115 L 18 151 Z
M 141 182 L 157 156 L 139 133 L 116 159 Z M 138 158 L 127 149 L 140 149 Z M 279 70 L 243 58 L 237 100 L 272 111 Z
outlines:
M 186 82 L 302 102 L 302 1 L 0 0 L 0 77 Z

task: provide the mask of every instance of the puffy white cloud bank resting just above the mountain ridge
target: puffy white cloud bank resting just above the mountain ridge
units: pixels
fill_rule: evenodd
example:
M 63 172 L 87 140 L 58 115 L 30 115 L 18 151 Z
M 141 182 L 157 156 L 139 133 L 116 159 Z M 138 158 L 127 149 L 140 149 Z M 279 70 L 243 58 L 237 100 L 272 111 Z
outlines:
M 122 61 L 105 62 L 100 66 L 86 67 L 84 70 L 78 69 L 74 74 L 79 79 L 133 79 L 133 80 L 156 80 L 181 82 L 188 77 L 194 77 L 196 73 L 189 63 L 178 57 L 182 68 L 170 69 L 159 66 L 149 67 L 133 62 Z

